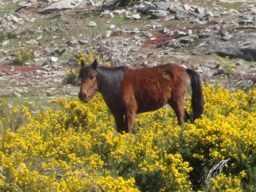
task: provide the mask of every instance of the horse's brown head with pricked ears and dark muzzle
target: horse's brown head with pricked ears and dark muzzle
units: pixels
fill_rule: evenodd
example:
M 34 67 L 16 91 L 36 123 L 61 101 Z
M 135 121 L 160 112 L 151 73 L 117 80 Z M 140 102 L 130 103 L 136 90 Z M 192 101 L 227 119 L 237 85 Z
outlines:
M 82 68 L 79 71 L 79 77 L 81 78 L 81 87 L 78 94 L 78 98 L 83 102 L 89 102 L 95 93 L 98 91 L 97 84 L 97 65 L 98 62 L 95 59 L 91 65 L 85 65 L 82 60 Z

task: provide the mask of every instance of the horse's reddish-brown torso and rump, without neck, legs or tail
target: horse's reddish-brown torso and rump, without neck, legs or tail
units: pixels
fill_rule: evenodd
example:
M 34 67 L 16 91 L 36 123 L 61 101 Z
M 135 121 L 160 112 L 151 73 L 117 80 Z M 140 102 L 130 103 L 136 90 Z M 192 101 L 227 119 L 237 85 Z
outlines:
M 187 91 L 190 84 L 186 69 L 174 64 L 143 69 L 127 69 L 124 78 L 124 96 L 134 97 L 137 113 L 163 107 L 172 97 L 173 91 Z M 127 100 L 129 100 L 127 99 Z

